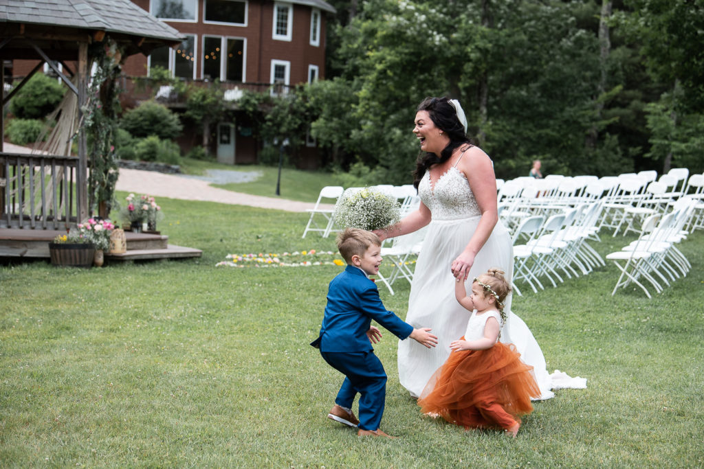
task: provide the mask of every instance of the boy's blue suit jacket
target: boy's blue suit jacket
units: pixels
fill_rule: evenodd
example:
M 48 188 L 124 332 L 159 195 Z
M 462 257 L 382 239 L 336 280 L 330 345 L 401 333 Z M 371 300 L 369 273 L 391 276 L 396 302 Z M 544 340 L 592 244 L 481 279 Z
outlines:
M 401 340 L 413 332 L 413 326 L 386 311 L 377 285 L 361 269 L 348 265 L 330 282 L 320 337 L 310 345 L 322 352 L 373 350 L 367 337 L 372 319 Z

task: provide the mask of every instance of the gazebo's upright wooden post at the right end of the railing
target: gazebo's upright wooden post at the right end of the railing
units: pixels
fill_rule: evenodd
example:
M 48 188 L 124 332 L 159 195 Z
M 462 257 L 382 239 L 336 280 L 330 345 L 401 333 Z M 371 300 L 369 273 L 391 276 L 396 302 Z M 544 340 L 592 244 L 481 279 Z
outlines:
M 88 101 L 88 43 L 78 44 L 78 168 L 76 174 L 76 215 L 78 222 L 88 217 L 88 146 L 86 141 L 85 124 L 83 123 L 83 107 Z

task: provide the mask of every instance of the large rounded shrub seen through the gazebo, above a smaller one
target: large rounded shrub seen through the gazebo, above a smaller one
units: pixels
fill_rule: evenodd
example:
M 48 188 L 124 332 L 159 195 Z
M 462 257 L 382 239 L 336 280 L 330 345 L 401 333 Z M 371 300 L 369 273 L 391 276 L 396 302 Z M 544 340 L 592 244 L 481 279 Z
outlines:
M 20 119 L 39 119 L 56 108 L 65 88 L 55 78 L 36 73 L 10 101 L 10 112 Z

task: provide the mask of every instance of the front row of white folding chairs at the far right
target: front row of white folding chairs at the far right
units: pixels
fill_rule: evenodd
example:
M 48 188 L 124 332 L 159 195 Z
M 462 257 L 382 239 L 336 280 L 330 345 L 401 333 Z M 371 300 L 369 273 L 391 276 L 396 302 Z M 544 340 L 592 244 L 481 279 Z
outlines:
M 621 272 L 611 295 L 615 295 L 619 288 L 635 283 L 650 298 L 643 280 L 660 293 L 677 278 L 686 276 L 691 264 L 677 244 L 688 234 L 684 226 L 696 210 L 696 204 L 693 198 L 681 198 L 674 204 L 673 210 L 662 217 L 660 214 L 650 215 L 643 224 L 643 234 L 637 240 L 606 256 Z

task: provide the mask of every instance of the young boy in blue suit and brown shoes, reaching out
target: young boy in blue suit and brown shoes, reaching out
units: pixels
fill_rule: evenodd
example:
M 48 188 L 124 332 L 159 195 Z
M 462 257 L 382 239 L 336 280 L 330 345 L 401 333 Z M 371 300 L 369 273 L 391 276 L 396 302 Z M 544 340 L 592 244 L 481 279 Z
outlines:
M 320 337 L 310 344 L 320 349 L 327 364 L 346 376 L 328 418 L 358 427 L 359 436 L 389 437 L 379 430 L 386 373 L 372 348 L 382 337 L 379 329 L 371 326 L 372 319 L 401 340 L 410 337 L 428 348 L 437 344 L 429 328 L 415 329 L 384 308 L 379 290 L 369 278 L 379 273 L 381 244 L 377 235 L 360 229 L 348 228 L 337 236 L 337 248 L 347 266 L 330 282 Z M 360 420 L 351 409 L 358 392 Z

